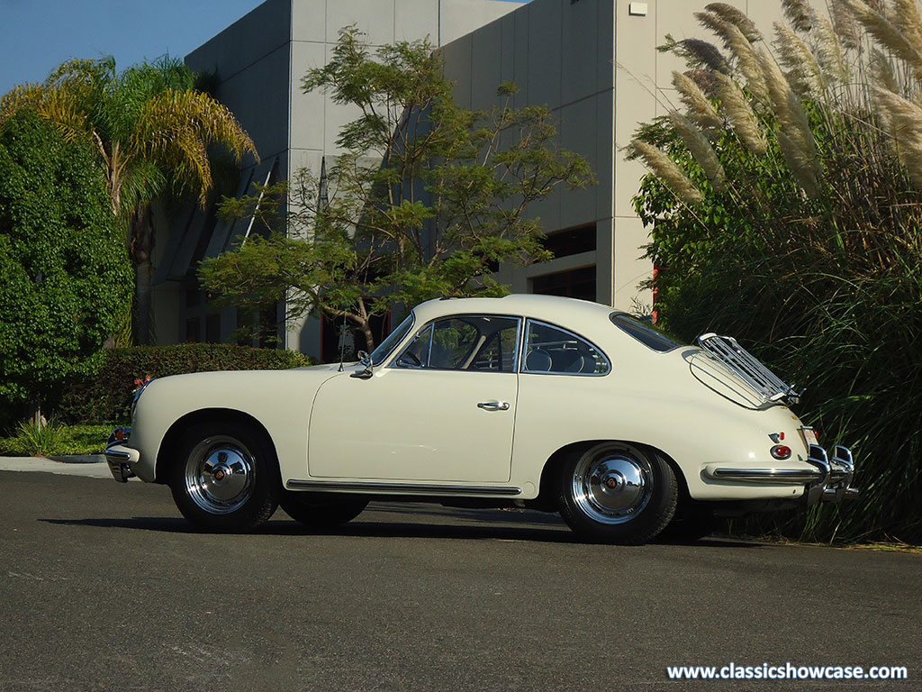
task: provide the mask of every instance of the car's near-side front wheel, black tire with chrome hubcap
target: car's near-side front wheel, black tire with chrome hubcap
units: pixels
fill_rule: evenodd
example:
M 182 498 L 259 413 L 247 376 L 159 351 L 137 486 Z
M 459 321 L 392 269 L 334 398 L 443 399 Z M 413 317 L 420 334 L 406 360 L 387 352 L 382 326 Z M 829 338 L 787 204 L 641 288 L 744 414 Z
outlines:
M 266 435 L 241 424 L 200 424 L 170 467 L 176 507 L 199 531 L 252 531 L 278 507 L 278 459 Z

